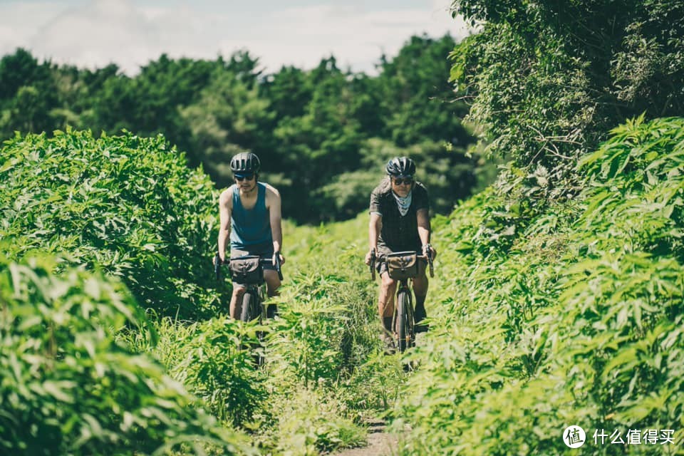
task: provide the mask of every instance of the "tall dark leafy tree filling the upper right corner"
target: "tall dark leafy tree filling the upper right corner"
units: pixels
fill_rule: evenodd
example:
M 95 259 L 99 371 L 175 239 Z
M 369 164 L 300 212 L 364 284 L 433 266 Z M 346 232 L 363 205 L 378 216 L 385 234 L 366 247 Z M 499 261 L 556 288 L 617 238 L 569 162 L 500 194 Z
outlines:
M 455 0 L 480 27 L 452 78 L 492 150 L 568 185 L 579 155 L 626 118 L 684 111 L 684 4 L 670 0 Z M 571 189 L 562 189 L 564 191 Z

